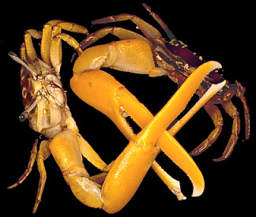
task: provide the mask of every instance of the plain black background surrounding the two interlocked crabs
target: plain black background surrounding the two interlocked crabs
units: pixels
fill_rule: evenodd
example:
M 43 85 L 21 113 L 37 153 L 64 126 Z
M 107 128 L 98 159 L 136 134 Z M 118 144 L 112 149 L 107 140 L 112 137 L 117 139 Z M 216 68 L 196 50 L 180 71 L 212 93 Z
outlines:
M 234 83 L 239 80 L 247 88 L 247 101 L 251 114 L 251 137 L 243 141 L 244 118 L 243 107 L 239 99 L 233 99 L 241 116 L 241 133 L 239 141 L 231 157 L 220 163 L 213 163 L 224 151 L 231 135 L 232 118 L 224 114 L 224 129 L 212 148 L 202 155 L 194 157 L 205 178 L 205 193 L 198 198 L 190 197 L 192 186 L 190 180 L 177 166 L 160 153 L 157 161 L 174 178 L 181 181 L 183 193 L 187 200 L 178 201 L 170 193 L 164 183 L 149 170 L 140 188 L 122 211 L 115 215 L 151 214 L 158 215 L 227 215 L 242 211 L 247 215 L 253 211 L 254 200 L 254 57 L 255 46 L 254 27 L 252 21 L 252 5 L 246 1 L 233 2 L 227 5 L 224 2 L 191 3 L 143 1 L 151 6 L 152 10 L 163 18 L 175 36 L 186 43 L 190 50 L 197 52 L 208 60 L 216 60 L 223 65 L 224 78 Z M 38 4 L 39 3 L 39 4 Z M 242 4 L 243 3 L 243 4 Z M 20 68 L 7 55 L 9 51 L 19 53 L 23 42 L 24 31 L 29 28 L 42 30 L 47 21 L 60 19 L 84 25 L 89 32 L 108 25 L 92 26 L 90 21 L 119 13 L 132 13 L 156 28 L 159 26 L 141 6 L 141 2 L 58 2 L 58 6 L 51 6 L 53 2 L 35 2 L 20 5 L 7 3 L 6 13 L 1 14 L 1 66 L 2 66 L 2 181 L 3 192 L 2 212 L 8 215 L 32 215 L 32 208 L 36 200 L 39 174 L 36 166 L 27 180 L 15 189 L 6 189 L 12 185 L 26 169 L 30 151 L 34 140 L 38 137 L 28 127 L 28 122 L 19 122 L 18 116 L 23 111 L 20 89 Z M 251 3 L 252 4 L 252 3 Z M 4 12 L 4 11 L 2 11 Z M 115 26 L 135 29 L 129 21 L 116 23 Z M 160 29 L 160 28 L 159 28 Z M 135 30 L 136 31 L 136 30 Z M 81 40 L 84 36 L 73 34 Z M 163 36 L 164 32 L 163 32 Z M 107 37 L 99 43 L 108 43 L 116 40 Z M 34 41 L 37 46 L 36 40 Z M 63 43 L 63 64 L 61 69 L 62 83 L 67 91 L 68 104 L 80 129 L 80 133 L 96 152 L 110 163 L 115 159 L 126 144 L 127 140 L 119 133 L 115 125 L 100 112 L 93 110 L 81 102 L 70 89 L 69 80 L 72 77 L 73 63 L 70 58 L 73 50 Z M 177 89 L 168 77 L 149 78 L 147 76 L 130 73 L 115 72 L 106 69 L 118 79 L 145 106 L 156 114 L 164 103 Z M 194 97 L 192 102 L 198 98 Z M 221 109 L 221 107 L 220 107 Z M 223 110 L 222 110 L 223 111 Z M 204 140 L 213 130 L 213 123 L 205 110 L 198 114 L 176 135 L 183 147 L 190 152 Z M 62 178 L 52 157 L 45 162 L 47 169 L 47 183 L 44 189 L 42 202 L 36 215 L 106 215 L 104 211 L 88 208 L 81 204 L 71 193 L 70 188 Z M 90 174 L 98 173 L 89 163 L 85 167 Z M 177 213 L 179 212 L 179 214 Z M 35 215 L 35 216 L 36 216 Z

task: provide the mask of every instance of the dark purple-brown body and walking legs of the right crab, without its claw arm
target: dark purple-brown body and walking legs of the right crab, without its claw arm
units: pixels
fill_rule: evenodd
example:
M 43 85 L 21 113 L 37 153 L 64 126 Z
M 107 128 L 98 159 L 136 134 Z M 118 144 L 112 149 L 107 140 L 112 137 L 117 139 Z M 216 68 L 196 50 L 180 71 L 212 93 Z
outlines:
M 130 14 L 119 14 L 116 16 L 104 17 L 102 19 L 92 21 L 92 24 L 106 24 L 117 21 L 132 21 L 137 25 L 137 28 L 141 30 L 144 36 L 132 32 L 125 28 L 118 27 L 108 27 L 102 28 L 97 32 L 92 33 L 86 39 L 81 42 L 81 48 L 84 50 L 86 47 L 96 42 L 98 39 L 111 34 L 119 37 L 119 39 L 142 39 L 149 43 L 152 48 L 152 55 L 155 60 L 156 66 L 167 71 L 168 77 L 173 80 L 176 84 L 183 84 L 186 78 L 190 73 L 194 72 L 199 65 L 205 61 L 194 54 L 192 51 L 187 49 L 186 45 L 177 40 L 172 34 L 170 29 L 164 21 L 156 14 L 153 13 L 149 6 L 143 4 L 145 9 L 147 9 L 150 15 L 160 24 L 164 31 L 166 32 L 170 42 L 166 41 L 160 32 L 152 27 L 151 24 L 143 21 L 140 17 L 130 15 Z M 223 81 L 224 78 L 220 76 L 219 73 L 212 72 L 209 73 L 209 76 L 203 81 L 200 88 L 198 88 L 197 95 L 201 97 L 205 94 L 206 90 L 209 89 L 211 84 L 218 84 Z M 232 125 L 232 135 L 228 140 L 227 147 L 225 148 L 222 156 L 214 161 L 221 161 L 228 159 L 228 156 L 231 155 L 235 144 L 237 143 L 239 132 L 240 132 L 240 118 L 239 112 L 236 109 L 235 105 L 232 103 L 232 97 L 236 95 L 241 102 L 243 103 L 243 110 L 245 116 L 245 135 L 246 139 L 250 137 L 250 114 L 249 108 L 247 106 L 247 99 L 244 96 L 245 88 L 238 81 L 235 84 L 227 84 L 224 86 L 221 92 L 218 92 L 205 104 L 205 110 L 209 114 L 210 118 L 213 120 L 215 129 L 212 133 L 198 145 L 197 148 L 194 148 L 190 155 L 199 155 L 201 152 L 204 152 L 209 148 L 219 137 L 222 126 L 224 125 L 223 118 L 220 112 L 220 109 L 216 107 L 216 104 L 220 104 L 224 110 L 230 115 L 233 119 Z

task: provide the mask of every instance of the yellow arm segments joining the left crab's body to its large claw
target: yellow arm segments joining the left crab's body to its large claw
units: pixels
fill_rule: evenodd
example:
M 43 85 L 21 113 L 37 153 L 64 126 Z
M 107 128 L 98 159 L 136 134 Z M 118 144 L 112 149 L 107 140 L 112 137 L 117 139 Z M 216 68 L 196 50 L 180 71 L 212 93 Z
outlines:
M 104 203 L 100 188 L 88 178 L 77 135 L 71 129 L 66 129 L 51 140 L 49 148 L 73 195 L 88 207 L 100 208 Z

